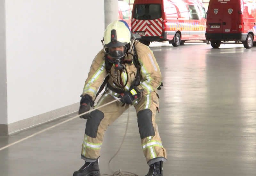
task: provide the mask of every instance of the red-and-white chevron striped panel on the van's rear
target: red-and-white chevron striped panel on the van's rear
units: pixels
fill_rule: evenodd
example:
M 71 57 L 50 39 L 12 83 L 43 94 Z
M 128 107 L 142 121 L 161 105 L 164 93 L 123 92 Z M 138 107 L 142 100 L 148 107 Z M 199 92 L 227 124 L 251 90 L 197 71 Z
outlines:
M 132 32 L 143 31 L 143 36 L 161 36 L 163 33 L 163 19 L 136 20 L 132 19 Z

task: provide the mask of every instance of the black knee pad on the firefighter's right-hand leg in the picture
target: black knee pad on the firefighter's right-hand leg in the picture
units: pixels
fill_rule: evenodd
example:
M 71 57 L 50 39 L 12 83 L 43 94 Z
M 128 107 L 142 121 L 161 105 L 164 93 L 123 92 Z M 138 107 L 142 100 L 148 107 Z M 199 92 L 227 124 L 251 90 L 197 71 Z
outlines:
M 154 126 L 152 123 L 152 111 L 150 109 L 144 109 L 139 111 L 137 116 L 140 139 L 155 136 Z

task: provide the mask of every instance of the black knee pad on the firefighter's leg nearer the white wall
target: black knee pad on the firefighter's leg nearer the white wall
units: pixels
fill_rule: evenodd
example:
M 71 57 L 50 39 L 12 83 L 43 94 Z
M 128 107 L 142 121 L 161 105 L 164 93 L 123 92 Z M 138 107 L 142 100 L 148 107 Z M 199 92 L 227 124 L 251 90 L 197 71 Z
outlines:
M 90 115 L 92 116 L 92 118 L 87 119 L 85 125 L 85 134 L 92 138 L 96 138 L 100 122 L 104 118 L 104 113 L 96 109 L 92 111 Z

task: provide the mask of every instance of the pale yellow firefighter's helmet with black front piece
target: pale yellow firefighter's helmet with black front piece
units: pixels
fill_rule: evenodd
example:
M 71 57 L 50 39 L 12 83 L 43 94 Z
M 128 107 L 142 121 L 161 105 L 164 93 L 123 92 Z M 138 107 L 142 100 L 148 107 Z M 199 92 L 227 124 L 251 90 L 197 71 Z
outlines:
M 103 40 L 107 48 L 123 46 L 131 42 L 131 32 L 124 22 L 116 20 L 107 26 Z

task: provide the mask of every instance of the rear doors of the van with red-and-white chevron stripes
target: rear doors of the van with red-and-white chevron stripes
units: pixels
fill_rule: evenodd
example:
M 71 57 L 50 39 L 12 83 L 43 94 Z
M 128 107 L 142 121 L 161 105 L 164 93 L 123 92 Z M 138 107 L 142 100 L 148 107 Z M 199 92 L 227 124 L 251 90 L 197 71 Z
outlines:
M 139 4 L 133 4 L 132 32 L 140 36 L 162 36 L 162 1 L 143 2 L 145 1 L 140 0 Z

